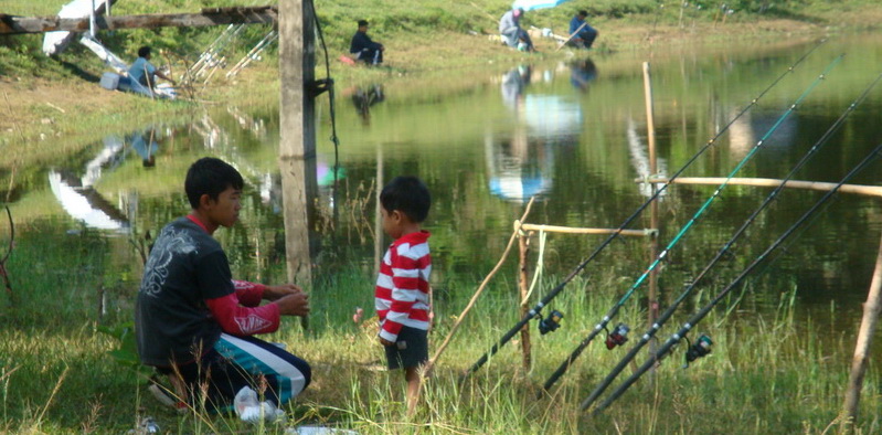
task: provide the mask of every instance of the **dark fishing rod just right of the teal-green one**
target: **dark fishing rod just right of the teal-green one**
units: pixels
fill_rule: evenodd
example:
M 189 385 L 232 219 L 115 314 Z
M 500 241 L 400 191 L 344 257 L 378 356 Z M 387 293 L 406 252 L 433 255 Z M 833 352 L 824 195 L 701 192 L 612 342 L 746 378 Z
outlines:
M 652 326 L 642 335 L 640 341 L 638 341 L 628 351 L 628 353 L 618 362 L 618 364 L 616 364 L 616 367 L 613 368 L 609 374 L 594 389 L 594 391 L 592 391 L 588 397 L 585 399 L 584 402 L 582 402 L 581 405 L 582 410 L 587 410 L 594 403 L 594 401 L 596 401 L 597 397 L 606 390 L 606 388 L 608 388 L 609 384 L 613 383 L 616 376 L 618 376 L 618 374 L 621 373 L 623 370 L 625 370 L 628 363 L 631 360 L 634 360 L 635 357 L 637 357 L 637 353 L 640 351 L 640 349 L 642 349 L 644 346 L 646 346 L 646 343 L 648 343 L 652 339 L 652 337 L 655 337 L 656 332 L 658 332 L 661 326 L 665 325 L 665 322 L 667 322 L 671 316 L 673 316 L 673 312 L 677 310 L 680 304 L 683 300 L 686 300 L 686 298 L 692 293 L 692 290 L 698 286 L 698 284 L 704 278 L 708 272 L 710 272 L 710 269 L 713 268 L 716 265 L 716 263 L 720 259 L 722 259 L 725 256 L 725 254 L 729 253 L 729 250 L 732 247 L 735 241 L 744 234 L 744 232 L 747 230 L 747 226 L 750 226 L 756 220 L 759 213 L 763 210 L 765 210 L 766 206 L 768 206 L 772 203 L 772 201 L 774 201 L 777 198 L 778 193 L 780 193 L 780 191 L 784 190 L 785 185 L 787 184 L 787 181 L 793 179 L 796 172 L 799 169 L 801 169 L 808 162 L 808 160 L 811 157 L 814 157 L 815 153 L 819 151 L 820 148 L 822 148 L 829 141 L 829 139 L 832 137 L 832 135 L 836 131 L 839 130 L 839 128 L 846 121 L 846 118 L 848 118 L 854 112 L 854 108 L 857 108 L 858 105 L 863 103 L 863 100 L 867 98 L 868 95 L 870 95 L 870 92 L 879 83 L 880 79 L 882 79 L 882 74 L 879 75 L 872 83 L 870 83 L 870 85 L 861 93 L 861 95 L 858 96 L 858 98 L 856 98 L 848 106 L 848 108 L 846 108 L 846 110 L 830 126 L 830 128 L 828 128 L 827 131 L 825 131 L 823 135 L 815 142 L 815 145 L 811 146 L 808 152 L 806 152 L 806 155 L 803 156 L 803 158 L 796 163 L 796 166 L 790 170 L 790 172 L 787 173 L 787 177 L 785 177 L 780 181 L 780 183 L 775 188 L 775 190 L 773 190 L 772 193 L 769 193 L 768 197 L 766 197 L 765 201 L 763 201 L 763 203 L 759 204 L 759 208 L 757 208 L 747 217 L 747 220 L 744 221 L 741 227 L 737 231 L 735 231 L 735 234 L 732 236 L 732 238 L 730 238 L 729 242 L 726 242 L 723 245 L 723 247 L 720 248 L 720 251 L 716 253 L 713 259 L 711 259 L 711 262 L 704 266 L 701 273 L 699 273 L 699 275 L 694 279 L 692 279 L 691 283 L 689 283 L 689 286 L 680 294 L 680 296 L 677 297 L 677 299 L 673 303 L 671 303 L 671 305 L 665 310 L 665 312 L 662 312 L 658 317 L 658 319 L 656 319 Z

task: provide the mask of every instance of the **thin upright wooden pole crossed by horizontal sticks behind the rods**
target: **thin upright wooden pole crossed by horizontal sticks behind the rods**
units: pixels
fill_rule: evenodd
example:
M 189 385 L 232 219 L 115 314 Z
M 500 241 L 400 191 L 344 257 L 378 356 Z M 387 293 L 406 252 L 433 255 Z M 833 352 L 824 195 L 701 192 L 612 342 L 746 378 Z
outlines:
M 656 155 L 656 117 L 652 108 L 652 82 L 649 74 L 649 62 L 644 62 L 644 93 L 646 94 L 646 135 L 649 146 L 649 174 L 658 173 L 658 156 Z M 656 193 L 656 184 L 651 183 L 652 194 Z M 649 227 L 658 231 L 658 198 L 652 200 L 649 205 Z M 649 240 L 649 262 L 655 262 L 658 256 L 658 233 Z M 658 318 L 658 267 L 649 273 L 649 295 L 647 297 L 647 328 L 651 328 Z M 650 354 L 656 352 L 656 342 L 649 344 Z

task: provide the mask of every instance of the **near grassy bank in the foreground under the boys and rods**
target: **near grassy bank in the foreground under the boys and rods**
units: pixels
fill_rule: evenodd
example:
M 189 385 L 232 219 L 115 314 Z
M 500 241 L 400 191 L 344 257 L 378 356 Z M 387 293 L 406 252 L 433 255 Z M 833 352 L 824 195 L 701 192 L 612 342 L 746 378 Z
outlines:
M 59 230 L 39 223 L 22 229 L 8 265 L 10 270 L 32 273 L 13 275 L 19 296 L 14 309 L 3 299 L 0 432 L 123 433 L 144 416 L 172 433 L 280 433 L 285 428 L 254 431 L 234 417 L 199 410 L 178 415 L 146 396 L 144 375 L 108 354 L 119 348 L 119 341 L 99 331 L 129 321 L 136 289 L 120 283 L 129 280 L 125 275 L 139 273 L 135 254 L 126 243 L 108 243 L 93 232 L 71 235 L 63 245 L 47 250 L 49 241 L 59 240 L 53 231 Z M 275 269 L 270 275 L 281 274 Z M 686 344 L 681 344 L 653 374 L 597 417 L 580 412 L 577 404 L 628 344 L 608 351 L 602 342 L 592 343 L 551 394 L 536 400 L 539 385 L 615 300 L 620 285 L 608 277 L 591 283 L 576 279 L 555 299 L 554 308 L 566 312 L 562 329 L 540 336 L 531 325 L 530 370 L 521 367 L 516 339 L 460 383 L 464 370 L 518 317 L 517 299 L 508 291 L 511 286 L 499 279 L 466 318 L 427 383 L 425 406 L 408 420 L 402 403 L 404 383 L 400 373 L 382 368 L 373 322 L 351 320 L 357 306 L 370 306 L 371 282 L 357 267 L 325 275 L 314 290 L 311 329 L 304 331 L 287 320 L 280 332 L 269 337 L 314 367 L 312 384 L 287 409 L 291 424 L 339 425 L 363 434 L 821 433 L 836 421 L 847 382 L 852 341 L 822 338 L 822 326 L 797 318 L 794 293 L 784 291 L 778 309 L 767 316 L 726 307 L 712 312 L 695 329 L 713 338 L 710 356 L 683 369 Z M 470 297 L 475 282 L 454 276 L 439 291 L 431 335 L 436 346 Z M 708 301 L 710 291 L 700 291 L 688 305 Z M 688 311 L 670 326 L 679 325 Z M 645 311 L 631 304 L 617 320 L 635 326 L 636 336 L 642 330 L 637 327 L 642 319 Z M 663 330 L 659 337 L 665 339 L 670 332 Z M 867 380 L 858 433 L 879 431 L 874 410 L 882 403 L 875 373 L 871 370 Z

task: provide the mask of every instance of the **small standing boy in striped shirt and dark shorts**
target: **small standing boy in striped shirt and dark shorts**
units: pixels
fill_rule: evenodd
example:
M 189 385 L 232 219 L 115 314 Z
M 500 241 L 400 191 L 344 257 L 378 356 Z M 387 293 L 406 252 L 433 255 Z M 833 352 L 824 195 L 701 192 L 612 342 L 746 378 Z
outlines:
M 419 394 L 417 370 L 428 361 L 428 275 L 432 257 L 427 231 L 422 230 L 432 205 L 426 185 L 416 177 L 396 177 L 380 193 L 383 231 L 395 242 L 383 255 L 376 277 L 374 306 L 380 317 L 379 340 L 389 369 L 404 369 L 407 413 Z

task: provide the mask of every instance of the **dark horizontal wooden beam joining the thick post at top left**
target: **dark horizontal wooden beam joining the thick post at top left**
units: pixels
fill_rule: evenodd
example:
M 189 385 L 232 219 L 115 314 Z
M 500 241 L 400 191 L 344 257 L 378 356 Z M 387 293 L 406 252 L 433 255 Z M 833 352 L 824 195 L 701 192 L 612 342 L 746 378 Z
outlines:
M 208 8 L 201 13 L 95 17 L 100 30 L 189 28 L 225 24 L 272 24 L 278 20 L 276 7 Z M 88 18 L 18 17 L 0 14 L 0 34 L 43 33 L 53 31 L 86 32 Z

